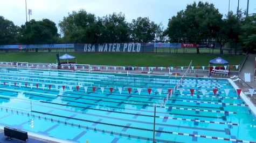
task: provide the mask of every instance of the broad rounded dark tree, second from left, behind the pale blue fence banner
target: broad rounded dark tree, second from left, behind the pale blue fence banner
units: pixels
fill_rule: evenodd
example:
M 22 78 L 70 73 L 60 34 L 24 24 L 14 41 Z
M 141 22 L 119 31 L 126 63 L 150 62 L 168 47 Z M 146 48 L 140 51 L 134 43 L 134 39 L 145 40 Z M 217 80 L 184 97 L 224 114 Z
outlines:
M 22 25 L 20 29 L 20 42 L 24 44 L 55 43 L 58 36 L 56 24 L 49 19 L 41 21 L 32 19 Z

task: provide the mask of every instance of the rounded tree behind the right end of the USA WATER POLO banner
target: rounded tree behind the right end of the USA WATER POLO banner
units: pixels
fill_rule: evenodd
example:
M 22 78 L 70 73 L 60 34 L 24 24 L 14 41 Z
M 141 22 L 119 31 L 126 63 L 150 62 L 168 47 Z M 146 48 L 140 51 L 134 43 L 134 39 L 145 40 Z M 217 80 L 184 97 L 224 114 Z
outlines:
M 134 42 L 150 42 L 155 39 L 157 25 L 148 17 L 133 19 L 129 27 L 130 37 Z

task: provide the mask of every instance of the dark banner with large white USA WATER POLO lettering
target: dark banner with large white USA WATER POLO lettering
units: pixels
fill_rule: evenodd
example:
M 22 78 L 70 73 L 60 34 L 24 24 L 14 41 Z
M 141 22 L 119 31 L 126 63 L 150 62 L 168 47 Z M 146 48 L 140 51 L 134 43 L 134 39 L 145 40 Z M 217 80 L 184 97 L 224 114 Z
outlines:
M 153 43 L 103 43 L 74 44 L 75 51 L 82 52 L 154 52 Z

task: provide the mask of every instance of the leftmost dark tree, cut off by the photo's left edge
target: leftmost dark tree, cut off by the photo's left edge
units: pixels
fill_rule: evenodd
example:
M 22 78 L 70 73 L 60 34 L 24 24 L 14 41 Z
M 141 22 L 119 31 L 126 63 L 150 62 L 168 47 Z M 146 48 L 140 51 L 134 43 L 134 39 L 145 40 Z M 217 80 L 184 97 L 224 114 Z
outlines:
M 17 43 L 18 31 L 18 26 L 15 26 L 12 21 L 0 16 L 0 44 Z

